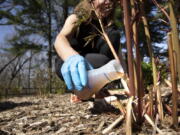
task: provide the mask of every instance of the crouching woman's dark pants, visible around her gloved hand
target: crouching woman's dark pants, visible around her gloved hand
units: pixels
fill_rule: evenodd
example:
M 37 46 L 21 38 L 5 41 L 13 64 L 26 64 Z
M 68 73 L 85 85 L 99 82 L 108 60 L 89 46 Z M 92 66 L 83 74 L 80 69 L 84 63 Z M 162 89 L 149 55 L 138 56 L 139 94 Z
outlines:
M 89 53 L 85 55 L 85 59 L 93 66 L 93 68 L 99 68 L 106 63 L 108 63 L 111 59 L 108 58 L 107 56 L 103 54 L 98 54 L 98 53 Z M 61 74 L 61 67 L 63 65 L 64 61 L 60 58 L 57 58 L 55 60 L 55 69 L 56 69 L 56 74 L 58 77 L 63 80 L 62 74 Z

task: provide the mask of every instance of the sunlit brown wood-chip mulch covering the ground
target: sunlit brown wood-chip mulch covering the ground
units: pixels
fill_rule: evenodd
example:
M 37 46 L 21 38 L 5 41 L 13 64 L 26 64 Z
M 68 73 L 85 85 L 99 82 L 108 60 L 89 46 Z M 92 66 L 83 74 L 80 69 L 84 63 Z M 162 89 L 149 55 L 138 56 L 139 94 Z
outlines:
M 0 102 L 0 135 L 101 135 L 121 115 L 102 102 L 70 103 L 70 94 L 14 97 Z M 180 135 L 170 123 L 171 116 L 166 114 L 157 126 L 166 135 Z M 147 121 L 133 127 L 134 135 L 157 134 Z M 124 134 L 125 120 L 107 133 Z

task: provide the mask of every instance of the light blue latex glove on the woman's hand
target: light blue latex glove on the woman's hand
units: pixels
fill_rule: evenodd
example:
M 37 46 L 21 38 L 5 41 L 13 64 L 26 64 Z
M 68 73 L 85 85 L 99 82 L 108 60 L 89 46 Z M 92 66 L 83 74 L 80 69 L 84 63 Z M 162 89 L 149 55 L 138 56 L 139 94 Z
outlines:
M 93 69 L 81 55 L 70 56 L 62 65 L 61 73 L 69 90 L 82 90 L 88 82 L 87 71 Z

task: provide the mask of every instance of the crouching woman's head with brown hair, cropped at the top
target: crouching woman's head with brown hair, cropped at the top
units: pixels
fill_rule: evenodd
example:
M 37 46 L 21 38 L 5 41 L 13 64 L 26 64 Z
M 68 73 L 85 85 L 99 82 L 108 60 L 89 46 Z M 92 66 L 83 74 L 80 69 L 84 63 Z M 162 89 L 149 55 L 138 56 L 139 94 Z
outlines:
M 94 9 L 101 19 L 112 20 L 115 0 L 83 0 L 75 8 L 75 13 L 87 19 L 94 18 Z

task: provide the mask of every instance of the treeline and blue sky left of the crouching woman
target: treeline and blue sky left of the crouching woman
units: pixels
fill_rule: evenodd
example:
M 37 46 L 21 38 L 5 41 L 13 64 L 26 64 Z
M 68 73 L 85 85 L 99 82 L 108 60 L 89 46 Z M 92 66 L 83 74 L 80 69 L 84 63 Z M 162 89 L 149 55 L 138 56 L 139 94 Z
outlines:
M 75 0 L 0 2 L 0 25 L 14 29 L 1 45 L 2 95 L 64 89 L 54 73 L 53 42 L 76 3 Z

